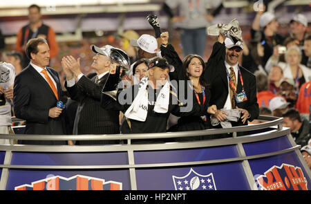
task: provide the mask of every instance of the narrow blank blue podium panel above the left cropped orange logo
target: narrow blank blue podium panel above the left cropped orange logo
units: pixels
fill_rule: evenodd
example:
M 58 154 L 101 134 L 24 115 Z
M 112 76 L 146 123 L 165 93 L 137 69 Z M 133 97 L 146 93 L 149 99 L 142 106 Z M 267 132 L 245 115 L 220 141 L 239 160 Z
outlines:
M 126 152 L 31 153 L 13 152 L 11 165 L 127 165 Z

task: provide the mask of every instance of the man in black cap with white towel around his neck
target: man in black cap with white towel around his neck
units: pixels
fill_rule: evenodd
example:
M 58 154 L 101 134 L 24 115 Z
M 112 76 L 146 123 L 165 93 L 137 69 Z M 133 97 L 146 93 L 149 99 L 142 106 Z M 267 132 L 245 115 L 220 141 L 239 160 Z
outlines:
M 207 107 L 197 105 L 182 111 L 184 106 L 176 90 L 169 83 L 169 71 L 173 68 L 166 59 L 155 57 L 148 65 L 149 76 L 140 84 L 120 91 L 117 98 L 102 93 L 102 107 L 118 109 L 124 113 L 122 133 L 159 133 L 167 131 L 167 120 L 172 113 L 182 115 L 206 115 Z

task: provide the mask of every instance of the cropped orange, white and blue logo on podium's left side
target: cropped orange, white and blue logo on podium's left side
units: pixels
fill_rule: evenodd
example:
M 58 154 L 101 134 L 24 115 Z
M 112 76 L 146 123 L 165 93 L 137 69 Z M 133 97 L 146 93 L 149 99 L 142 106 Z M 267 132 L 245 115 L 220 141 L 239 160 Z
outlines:
M 70 178 L 53 176 L 34 181 L 31 185 L 19 185 L 15 190 L 122 190 L 122 183 L 81 175 Z

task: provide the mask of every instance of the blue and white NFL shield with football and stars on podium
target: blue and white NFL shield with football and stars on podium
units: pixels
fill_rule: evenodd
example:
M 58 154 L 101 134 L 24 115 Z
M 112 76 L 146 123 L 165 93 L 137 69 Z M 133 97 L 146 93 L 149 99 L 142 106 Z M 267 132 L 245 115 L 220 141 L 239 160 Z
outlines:
M 185 176 L 172 176 L 176 190 L 216 190 L 215 180 L 212 173 L 201 175 L 194 169 L 190 169 Z

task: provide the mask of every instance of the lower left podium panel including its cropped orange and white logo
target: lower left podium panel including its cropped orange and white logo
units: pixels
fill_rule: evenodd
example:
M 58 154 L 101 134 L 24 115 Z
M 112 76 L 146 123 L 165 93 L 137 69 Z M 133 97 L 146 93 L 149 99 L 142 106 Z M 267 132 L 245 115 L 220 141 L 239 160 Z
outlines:
M 129 190 L 129 170 L 10 169 L 7 190 Z

